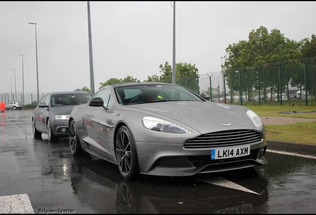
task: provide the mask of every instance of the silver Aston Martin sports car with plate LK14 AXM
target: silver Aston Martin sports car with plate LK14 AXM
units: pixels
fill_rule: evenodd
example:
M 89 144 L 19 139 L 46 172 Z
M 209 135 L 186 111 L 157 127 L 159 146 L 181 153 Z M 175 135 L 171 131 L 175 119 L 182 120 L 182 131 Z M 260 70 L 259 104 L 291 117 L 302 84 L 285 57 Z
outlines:
M 109 85 L 69 118 L 74 155 L 88 152 L 140 174 L 191 176 L 266 165 L 265 127 L 252 110 L 209 102 L 167 83 Z

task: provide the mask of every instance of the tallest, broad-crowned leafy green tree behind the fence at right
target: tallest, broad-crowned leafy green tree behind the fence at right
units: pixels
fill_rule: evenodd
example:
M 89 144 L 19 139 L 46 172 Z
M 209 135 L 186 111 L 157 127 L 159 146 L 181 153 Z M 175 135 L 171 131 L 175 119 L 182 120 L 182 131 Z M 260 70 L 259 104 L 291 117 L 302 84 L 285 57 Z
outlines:
M 225 68 L 228 73 L 233 74 L 234 70 L 240 71 L 244 77 L 244 71 L 252 71 L 246 76 L 246 80 L 242 81 L 246 86 L 242 85 L 242 90 L 257 86 L 257 72 L 260 74 L 260 87 L 263 87 L 264 101 L 266 101 L 266 88 L 270 88 L 270 92 L 276 87 L 279 91 L 289 84 L 293 71 L 282 68 L 282 62 L 300 58 L 299 43 L 284 37 L 280 30 L 273 29 L 269 33 L 267 28 L 260 26 L 256 30 L 249 33 L 248 41 L 240 41 L 237 44 L 229 45 L 226 49 L 228 57 L 225 61 Z M 278 62 L 276 65 L 275 62 Z M 279 70 L 271 70 L 262 67 L 262 65 L 273 64 L 271 67 L 280 67 L 281 69 L 281 84 L 279 86 Z M 234 82 L 236 77 L 232 75 L 231 82 Z M 233 86 L 233 90 L 236 88 Z M 231 86 L 229 85 L 229 86 Z

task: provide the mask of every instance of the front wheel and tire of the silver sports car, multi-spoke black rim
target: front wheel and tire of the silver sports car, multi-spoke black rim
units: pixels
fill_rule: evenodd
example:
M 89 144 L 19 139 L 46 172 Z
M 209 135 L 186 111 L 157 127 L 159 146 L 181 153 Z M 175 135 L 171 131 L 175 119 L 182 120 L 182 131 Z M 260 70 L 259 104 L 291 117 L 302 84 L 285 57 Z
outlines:
M 126 126 L 119 128 L 115 137 L 116 160 L 123 178 L 135 180 L 140 174 L 135 140 Z

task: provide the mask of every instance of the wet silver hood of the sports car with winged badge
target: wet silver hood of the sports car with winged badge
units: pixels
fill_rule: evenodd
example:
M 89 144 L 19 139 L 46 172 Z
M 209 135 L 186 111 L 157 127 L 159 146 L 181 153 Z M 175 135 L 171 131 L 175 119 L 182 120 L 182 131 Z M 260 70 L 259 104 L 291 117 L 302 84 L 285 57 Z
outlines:
M 200 133 L 218 130 L 254 129 L 250 118 L 246 114 L 248 108 L 242 106 L 183 101 L 143 104 L 139 105 L 137 109 L 161 115 L 160 118 L 162 119 L 166 119 L 165 117 L 171 118 Z M 159 117 L 158 115 L 156 117 Z

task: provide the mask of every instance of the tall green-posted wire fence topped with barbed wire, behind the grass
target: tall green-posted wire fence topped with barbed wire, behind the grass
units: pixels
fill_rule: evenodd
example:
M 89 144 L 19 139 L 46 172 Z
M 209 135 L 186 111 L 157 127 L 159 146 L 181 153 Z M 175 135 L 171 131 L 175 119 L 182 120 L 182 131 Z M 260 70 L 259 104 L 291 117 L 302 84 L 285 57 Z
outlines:
M 231 68 L 203 74 L 198 79 L 176 79 L 176 84 L 198 94 L 206 93 L 213 102 L 315 105 L 316 58 Z

